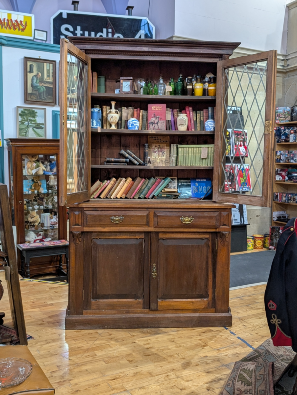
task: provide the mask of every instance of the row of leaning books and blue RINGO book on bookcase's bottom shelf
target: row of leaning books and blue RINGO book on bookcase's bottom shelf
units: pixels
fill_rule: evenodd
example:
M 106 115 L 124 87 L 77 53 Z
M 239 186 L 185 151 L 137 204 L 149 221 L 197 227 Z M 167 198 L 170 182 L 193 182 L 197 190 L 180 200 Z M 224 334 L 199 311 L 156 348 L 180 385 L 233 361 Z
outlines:
M 209 196 L 210 178 L 136 177 L 97 180 L 91 187 L 91 199 L 202 199 Z

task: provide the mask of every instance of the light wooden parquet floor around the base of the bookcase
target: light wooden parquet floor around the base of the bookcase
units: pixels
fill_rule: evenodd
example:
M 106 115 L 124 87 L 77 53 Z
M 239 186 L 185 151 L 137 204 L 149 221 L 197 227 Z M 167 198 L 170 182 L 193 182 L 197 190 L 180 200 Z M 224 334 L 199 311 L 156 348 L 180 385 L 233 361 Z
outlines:
M 231 291 L 227 329 L 65 332 L 67 285 L 21 281 L 21 290 L 29 349 L 56 395 L 219 394 L 233 362 L 269 337 L 265 285 Z M 7 292 L 0 310 L 9 310 Z

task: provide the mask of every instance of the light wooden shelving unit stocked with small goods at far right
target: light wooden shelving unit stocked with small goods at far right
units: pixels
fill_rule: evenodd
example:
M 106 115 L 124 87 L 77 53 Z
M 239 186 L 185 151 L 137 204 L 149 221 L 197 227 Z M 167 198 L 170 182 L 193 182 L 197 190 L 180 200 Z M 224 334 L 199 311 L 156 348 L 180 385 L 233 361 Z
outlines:
M 297 126 L 297 122 L 284 122 L 284 123 L 276 123 L 276 127 L 278 126 Z M 281 150 L 297 150 L 297 142 L 294 143 L 275 143 L 274 149 L 274 158 L 275 151 Z M 284 193 L 297 193 L 297 183 L 295 182 L 285 182 L 285 181 L 275 181 L 275 169 L 278 168 L 297 168 L 297 163 L 280 163 L 275 162 L 274 159 L 274 171 L 273 171 L 273 192 L 284 192 Z M 273 199 L 273 196 L 272 196 Z M 284 207 L 285 206 L 285 207 Z M 272 201 L 272 212 L 274 211 L 284 211 L 289 214 L 289 218 L 297 217 L 297 204 L 296 203 L 285 203 L 285 202 L 276 202 Z M 285 226 L 286 222 L 283 221 L 273 221 L 272 218 L 272 226 Z

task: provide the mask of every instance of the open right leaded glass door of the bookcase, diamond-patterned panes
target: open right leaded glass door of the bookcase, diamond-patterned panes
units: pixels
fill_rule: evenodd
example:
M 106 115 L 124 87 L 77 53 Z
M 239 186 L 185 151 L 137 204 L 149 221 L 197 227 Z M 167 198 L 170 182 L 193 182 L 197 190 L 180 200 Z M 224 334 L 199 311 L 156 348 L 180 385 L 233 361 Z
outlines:
M 214 200 L 270 206 L 276 51 L 218 62 Z

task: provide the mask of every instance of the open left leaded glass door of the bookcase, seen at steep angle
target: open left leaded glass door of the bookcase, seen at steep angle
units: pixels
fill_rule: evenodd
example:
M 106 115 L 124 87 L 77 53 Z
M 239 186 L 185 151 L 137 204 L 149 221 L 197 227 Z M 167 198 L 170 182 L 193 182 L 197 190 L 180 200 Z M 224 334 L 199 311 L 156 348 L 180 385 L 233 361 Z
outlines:
M 60 61 L 60 204 L 89 200 L 91 59 L 61 39 Z

